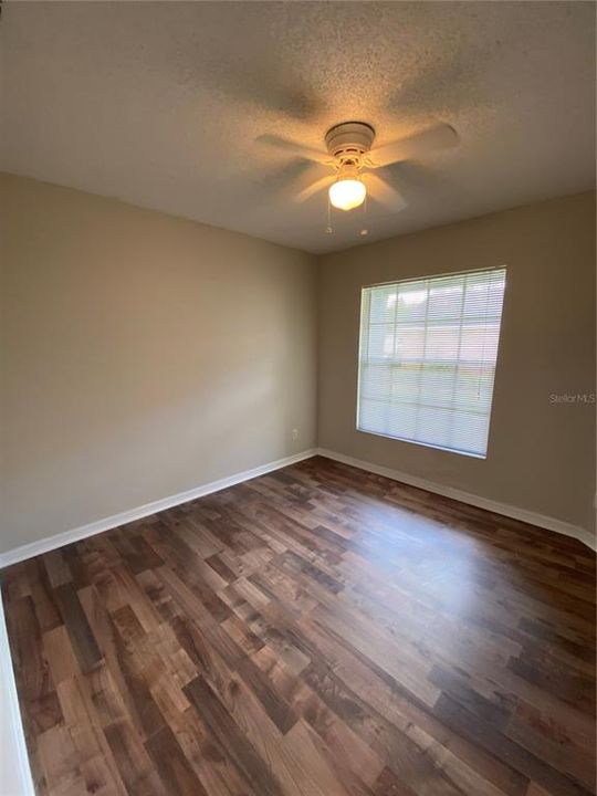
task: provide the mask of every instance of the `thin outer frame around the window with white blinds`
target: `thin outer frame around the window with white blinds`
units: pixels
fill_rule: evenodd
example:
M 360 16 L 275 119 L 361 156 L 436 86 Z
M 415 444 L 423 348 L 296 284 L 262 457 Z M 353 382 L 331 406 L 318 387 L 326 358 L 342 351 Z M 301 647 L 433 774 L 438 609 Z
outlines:
M 359 417 L 360 417 L 360 352 L 363 349 L 363 333 L 364 333 L 364 324 L 363 324 L 363 302 L 364 302 L 364 294 L 366 290 L 370 290 L 371 287 L 384 287 L 386 285 L 402 285 L 408 284 L 409 282 L 421 282 L 426 280 L 434 280 L 434 279 L 442 279 L 448 276 L 465 276 L 468 274 L 482 274 L 482 273 L 490 273 L 492 271 L 504 271 L 504 292 L 502 296 L 502 310 L 500 313 L 500 332 L 498 334 L 498 347 L 496 347 L 496 354 L 495 354 L 495 367 L 494 367 L 494 378 L 493 378 L 493 385 L 491 390 L 491 406 L 490 406 L 490 412 L 489 412 L 489 422 L 488 422 L 488 442 L 484 453 L 475 453 L 473 451 L 465 451 L 465 450 L 459 450 L 458 448 L 447 448 L 446 446 L 441 444 L 434 444 L 432 442 L 419 442 L 418 440 L 410 439 L 408 437 L 395 437 L 392 434 L 388 433 L 381 433 L 380 431 L 369 431 L 367 429 L 359 428 Z M 381 439 L 392 440 L 396 442 L 407 442 L 409 444 L 413 446 L 420 446 L 421 448 L 430 448 L 431 450 L 440 450 L 446 453 L 454 453 L 457 455 L 464 455 L 469 457 L 470 459 L 478 459 L 481 461 L 486 461 L 489 458 L 490 452 L 490 441 L 491 441 L 491 428 L 492 428 L 492 420 L 493 420 L 493 410 L 494 410 L 494 396 L 495 396 L 495 384 L 498 380 L 498 369 L 500 364 L 500 356 L 502 350 L 502 333 L 503 333 L 503 318 L 504 318 L 504 310 L 505 310 L 505 303 L 506 303 L 506 291 L 509 285 L 509 265 L 507 263 L 501 263 L 500 265 L 489 265 L 485 268 L 475 268 L 475 269 L 464 269 L 462 271 L 447 271 L 443 273 L 434 273 L 434 274 L 428 274 L 423 276 L 407 276 L 405 279 L 392 279 L 392 280 L 386 280 L 384 282 L 371 282 L 369 284 L 362 284 L 360 285 L 360 298 L 358 304 L 358 343 L 357 343 L 357 384 L 356 384 L 356 423 L 355 428 L 356 431 L 364 434 L 370 434 L 371 437 L 379 437 Z M 367 328 L 367 333 L 368 333 Z

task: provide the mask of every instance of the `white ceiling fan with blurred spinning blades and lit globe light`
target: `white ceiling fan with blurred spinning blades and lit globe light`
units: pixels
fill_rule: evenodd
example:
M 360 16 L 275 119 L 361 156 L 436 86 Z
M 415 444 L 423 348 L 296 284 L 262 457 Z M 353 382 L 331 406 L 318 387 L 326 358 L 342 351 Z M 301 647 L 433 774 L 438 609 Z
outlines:
M 371 125 L 365 122 L 343 122 L 327 130 L 327 151 L 304 147 L 279 136 L 265 135 L 259 140 L 331 169 L 324 177 L 298 190 L 297 201 L 304 201 L 327 188 L 331 205 L 339 210 L 360 207 L 367 193 L 370 193 L 374 199 L 397 212 L 406 207 L 407 202 L 401 193 L 375 174 L 375 170 L 391 164 L 419 159 L 427 153 L 454 146 L 458 135 L 449 124 L 441 123 L 371 149 L 375 140 Z

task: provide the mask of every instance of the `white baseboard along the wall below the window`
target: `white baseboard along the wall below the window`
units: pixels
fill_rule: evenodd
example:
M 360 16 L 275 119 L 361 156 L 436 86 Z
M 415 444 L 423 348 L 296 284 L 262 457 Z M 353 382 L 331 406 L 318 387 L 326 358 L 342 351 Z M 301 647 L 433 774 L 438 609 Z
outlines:
M 359 470 L 373 472 L 376 475 L 385 475 L 392 481 L 400 481 L 409 486 L 418 486 L 419 489 L 427 490 L 427 492 L 433 492 L 434 494 L 440 494 L 444 498 L 452 498 L 461 503 L 468 503 L 469 505 L 476 506 L 478 509 L 485 509 L 494 514 L 503 514 L 512 520 L 520 520 L 521 522 L 528 523 L 530 525 L 537 525 L 538 527 L 546 528 L 547 531 L 555 531 L 556 533 L 564 534 L 565 536 L 573 536 L 586 544 L 587 547 L 596 549 L 595 535 L 578 525 L 572 525 L 563 522 L 562 520 L 545 516 L 544 514 L 536 514 L 535 512 L 527 511 L 526 509 L 517 509 L 516 506 L 507 505 L 507 503 L 498 503 L 496 501 L 489 500 L 488 498 L 480 498 L 479 495 L 471 494 L 470 492 L 463 492 L 462 490 L 453 486 L 444 486 L 443 484 L 427 481 L 426 479 L 418 478 L 417 475 L 409 475 L 408 473 L 400 472 L 399 470 L 392 470 L 391 468 L 386 468 L 381 464 L 373 464 L 371 462 L 366 462 L 362 459 L 354 459 L 353 457 L 345 455 L 344 453 L 336 453 L 336 451 L 326 450 L 325 448 L 320 448 L 317 452 L 320 455 L 326 457 L 327 459 L 333 459 L 334 461 L 342 462 L 343 464 L 350 464 Z

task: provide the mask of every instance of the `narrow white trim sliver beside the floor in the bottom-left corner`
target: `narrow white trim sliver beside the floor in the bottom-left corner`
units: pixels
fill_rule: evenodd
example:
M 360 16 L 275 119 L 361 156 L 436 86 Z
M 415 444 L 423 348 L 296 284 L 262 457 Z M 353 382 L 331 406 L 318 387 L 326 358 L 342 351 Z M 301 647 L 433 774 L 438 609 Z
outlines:
M 35 796 L 0 599 L 0 773 L 3 796 Z

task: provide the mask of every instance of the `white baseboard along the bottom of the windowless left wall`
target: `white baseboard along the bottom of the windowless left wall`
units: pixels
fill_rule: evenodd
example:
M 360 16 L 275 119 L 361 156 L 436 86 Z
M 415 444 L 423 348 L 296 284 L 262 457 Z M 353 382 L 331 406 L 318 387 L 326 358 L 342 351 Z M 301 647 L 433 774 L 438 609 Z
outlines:
M 260 467 L 252 468 L 251 470 L 244 470 L 243 472 L 234 473 L 234 475 L 212 481 L 211 483 L 203 484 L 202 486 L 196 486 L 187 492 L 179 492 L 178 494 L 170 495 L 169 498 L 163 498 L 161 500 L 146 503 L 145 505 L 137 506 L 136 509 L 129 509 L 128 511 L 113 514 L 112 516 L 97 520 L 96 522 L 88 523 L 87 525 L 81 525 L 80 527 L 72 528 L 71 531 L 64 531 L 55 534 L 54 536 L 48 536 L 36 542 L 30 542 L 29 544 L 21 545 L 20 547 L 14 547 L 6 553 L 0 553 L 0 569 L 2 567 L 10 566 L 11 564 L 25 561 L 25 558 L 32 558 L 41 553 L 48 553 L 49 551 L 56 549 L 56 547 L 63 547 L 64 545 L 72 544 L 73 542 L 78 542 L 87 536 L 94 536 L 103 531 L 109 531 L 118 527 L 119 525 L 125 525 L 134 520 L 143 520 L 143 517 L 157 514 L 166 509 L 171 509 L 172 506 L 180 505 L 181 503 L 188 503 L 191 500 L 202 498 L 203 495 L 211 494 L 212 492 L 219 492 L 228 486 L 233 486 L 242 481 L 249 481 L 250 479 L 258 478 L 258 475 L 264 475 L 273 470 L 280 470 L 281 468 L 289 467 L 289 464 L 295 464 L 304 459 L 311 459 L 311 457 L 316 454 L 316 449 L 302 451 L 301 453 L 284 457 L 284 459 L 277 459 L 276 461 L 269 462 L 268 464 L 261 464 Z

